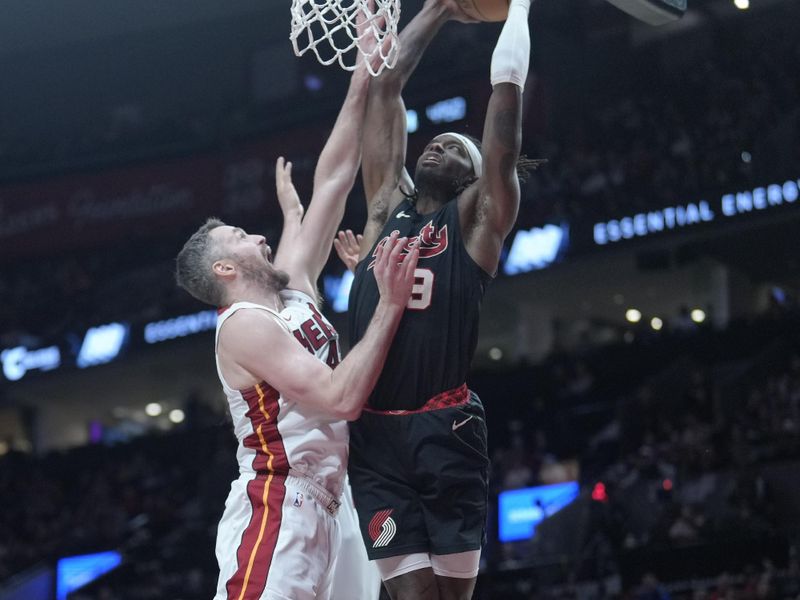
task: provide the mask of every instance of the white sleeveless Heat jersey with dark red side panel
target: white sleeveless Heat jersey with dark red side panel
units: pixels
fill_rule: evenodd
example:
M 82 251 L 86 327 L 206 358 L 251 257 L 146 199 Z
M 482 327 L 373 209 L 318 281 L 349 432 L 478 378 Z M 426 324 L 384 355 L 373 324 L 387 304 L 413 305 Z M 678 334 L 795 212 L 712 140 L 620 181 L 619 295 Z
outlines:
M 280 295 L 285 306 L 280 312 L 251 302 L 237 302 L 225 308 L 217 319 L 217 341 L 223 324 L 236 311 L 263 310 L 309 352 L 335 367 L 340 360 L 339 335 L 314 300 L 297 290 L 284 290 Z M 291 468 L 334 496 L 341 495 L 347 470 L 345 421 L 282 396 L 267 381 L 244 390 L 232 389 L 222 376 L 218 355 L 217 373 L 228 398 L 234 433 L 239 441 L 236 457 L 241 474 L 287 474 Z

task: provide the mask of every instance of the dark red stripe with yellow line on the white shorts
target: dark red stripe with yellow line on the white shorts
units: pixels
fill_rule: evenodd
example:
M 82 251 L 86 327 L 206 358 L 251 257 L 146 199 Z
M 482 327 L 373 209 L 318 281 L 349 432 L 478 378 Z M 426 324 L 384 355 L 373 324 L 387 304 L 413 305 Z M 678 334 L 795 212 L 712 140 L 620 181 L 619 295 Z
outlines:
M 270 473 L 247 484 L 253 512 L 236 551 L 238 568 L 225 584 L 228 600 L 258 600 L 264 593 L 281 528 L 285 480 Z

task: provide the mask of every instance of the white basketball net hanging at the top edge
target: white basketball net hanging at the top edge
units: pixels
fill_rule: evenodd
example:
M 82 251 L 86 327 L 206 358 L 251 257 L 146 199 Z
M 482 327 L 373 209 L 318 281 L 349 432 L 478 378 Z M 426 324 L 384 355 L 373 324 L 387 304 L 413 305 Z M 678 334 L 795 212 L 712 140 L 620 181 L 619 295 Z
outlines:
M 292 0 L 290 39 L 297 56 L 312 50 L 323 65 L 338 61 L 347 71 L 364 62 L 378 75 L 397 62 L 399 20 L 400 0 Z

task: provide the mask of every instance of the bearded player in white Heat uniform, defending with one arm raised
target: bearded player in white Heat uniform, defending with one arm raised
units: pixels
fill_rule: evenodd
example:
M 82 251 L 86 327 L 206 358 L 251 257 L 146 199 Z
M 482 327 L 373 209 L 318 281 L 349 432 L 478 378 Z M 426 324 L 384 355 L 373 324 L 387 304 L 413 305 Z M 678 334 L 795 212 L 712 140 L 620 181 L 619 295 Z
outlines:
M 215 219 L 178 255 L 179 284 L 225 307 L 216 358 L 239 440 L 240 477 L 218 531 L 216 600 L 361 597 L 331 592 L 343 533 L 337 513 L 345 420 L 357 418 L 377 380 L 418 258 L 413 250 L 401 260 L 407 240 L 394 236 L 376 262 L 381 303 L 367 335 L 335 370 L 320 360 L 333 362 L 338 350 L 314 283 L 358 169 L 367 83 L 364 70 L 354 74 L 320 155 L 308 214 L 281 240 L 274 264 L 262 236 Z M 280 162 L 278 171 L 280 180 Z

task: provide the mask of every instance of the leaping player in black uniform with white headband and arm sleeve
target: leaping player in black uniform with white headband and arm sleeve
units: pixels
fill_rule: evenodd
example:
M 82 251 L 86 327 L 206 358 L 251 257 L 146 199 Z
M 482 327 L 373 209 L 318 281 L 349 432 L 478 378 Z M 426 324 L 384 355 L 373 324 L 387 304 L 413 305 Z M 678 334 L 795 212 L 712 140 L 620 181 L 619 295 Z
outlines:
M 394 600 L 469 598 L 485 535 L 486 425 L 465 384 L 481 299 L 519 207 L 521 95 L 531 0 L 511 0 L 492 56 L 482 143 L 436 136 L 405 170 L 403 86 L 435 33 L 463 19 L 427 0 L 401 34 L 397 66 L 370 83 L 362 174 L 368 217 L 350 294 L 358 342 L 378 293 L 372 265 L 393 231 L 417 241 L 416 284 L 386 366 L 351 423 L 350 480 L 362 535 Z

